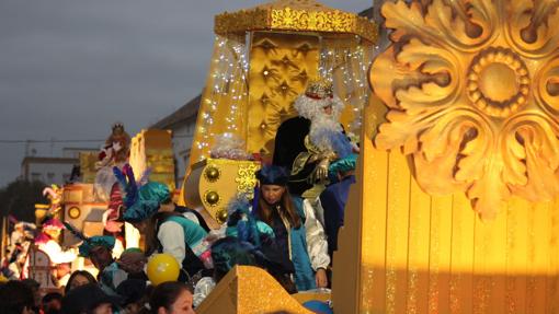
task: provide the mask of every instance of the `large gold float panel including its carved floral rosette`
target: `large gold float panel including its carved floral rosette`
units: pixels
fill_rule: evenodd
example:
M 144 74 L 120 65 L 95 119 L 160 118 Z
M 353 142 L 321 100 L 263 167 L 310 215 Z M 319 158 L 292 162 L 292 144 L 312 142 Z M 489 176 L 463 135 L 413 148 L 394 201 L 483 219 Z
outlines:
M 383 9 L 334 310 L 555 313 L 559 5 L 412 2 Z

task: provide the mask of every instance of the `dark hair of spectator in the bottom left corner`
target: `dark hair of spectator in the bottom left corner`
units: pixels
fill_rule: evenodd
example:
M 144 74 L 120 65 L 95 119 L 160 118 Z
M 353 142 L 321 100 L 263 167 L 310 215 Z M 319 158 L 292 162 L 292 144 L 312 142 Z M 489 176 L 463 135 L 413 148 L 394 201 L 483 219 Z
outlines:
M 16 280 L 10 280 L 0 286 L 0 300 L 2 300 L 2 313 L 4 314 L 21 314 L 25 307 L 31 310 L 35 306 L 31 288 Z

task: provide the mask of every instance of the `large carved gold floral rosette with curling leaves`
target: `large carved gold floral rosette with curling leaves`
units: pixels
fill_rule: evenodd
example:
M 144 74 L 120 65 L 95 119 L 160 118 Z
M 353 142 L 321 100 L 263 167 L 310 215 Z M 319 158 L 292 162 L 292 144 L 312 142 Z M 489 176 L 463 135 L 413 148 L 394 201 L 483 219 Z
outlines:
M 559 193 L 559 1 L 383 7 L 393 44 L 369 75 L 389 111 L 375 144 L 412 155 L 429 194 L 463 190 L 481 218 L 512 195 Z

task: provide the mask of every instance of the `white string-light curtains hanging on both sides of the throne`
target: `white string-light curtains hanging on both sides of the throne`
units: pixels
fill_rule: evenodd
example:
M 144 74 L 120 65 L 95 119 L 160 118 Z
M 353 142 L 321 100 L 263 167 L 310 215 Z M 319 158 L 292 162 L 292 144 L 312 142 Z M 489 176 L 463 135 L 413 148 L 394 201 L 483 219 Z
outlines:
M 246 127 L 244 109 L 248 103 L 248 48 L 246 38 L 216 37 L 216 51 L 213 56 L 210 74 L 212 91 L 204 94 L 198 133 L 195 147 L 201 150 L 199 160 L 208 155 L 210 141 L 217 136 L 215 126 L 228 135 L 238 133 Z M 373 46 L 364 46 L 356 36 L 347 47 L 323 47 L 320 51 L 319 73 L 334 82 L 336 92 L 353 111 L 354 121 L 346 126 L 350 131 L 361 128 L 362 109 L 368 102 L 367 68 L 374 51 Z M 368 51 L 370 50 L 370 51 Z M 335 78 L 335 80 L 334 80 Z M 224 115 L 216 121 L 215 114 Z M 219 124 L 224 124 L 223 128 Z

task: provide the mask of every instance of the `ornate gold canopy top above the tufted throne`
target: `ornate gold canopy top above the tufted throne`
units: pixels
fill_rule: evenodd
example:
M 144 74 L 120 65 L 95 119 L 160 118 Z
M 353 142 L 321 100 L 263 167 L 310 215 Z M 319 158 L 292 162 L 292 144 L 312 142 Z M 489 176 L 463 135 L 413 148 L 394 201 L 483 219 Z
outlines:
M 215 33 L 218 35 L 250 31 L 342 33 L 357 35 L 372 43 L 377 38 L 375 23 L 313 0 L 276 0 L 215 18 Z

